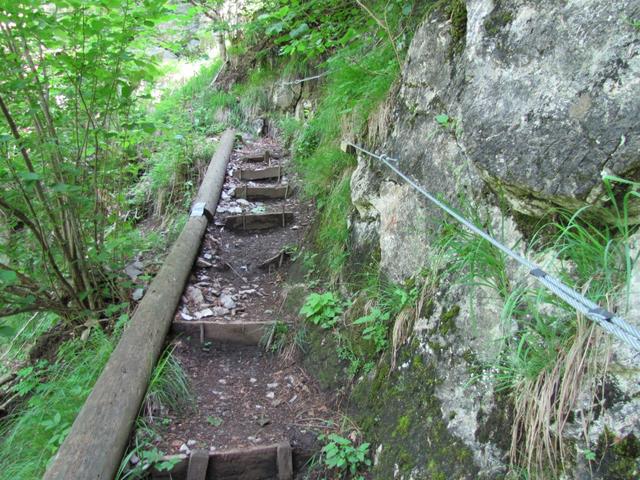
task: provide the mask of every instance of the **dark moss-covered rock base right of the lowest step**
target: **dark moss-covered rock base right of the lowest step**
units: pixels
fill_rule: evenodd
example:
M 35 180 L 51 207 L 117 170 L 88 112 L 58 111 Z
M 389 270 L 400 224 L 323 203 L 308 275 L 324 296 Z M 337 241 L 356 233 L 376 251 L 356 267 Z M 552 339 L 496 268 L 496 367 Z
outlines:
M 414 478 L 475 478 L 471 451 L 449 432 L 442 417 L 435 365 L 412 348 L 399 358 L 409 367 L 390 371 L 382 364 L 372 379 L 354 387 L 349 402 L 364 437 L 383 444 L 373 478 L 393 478 L 396 465 Z

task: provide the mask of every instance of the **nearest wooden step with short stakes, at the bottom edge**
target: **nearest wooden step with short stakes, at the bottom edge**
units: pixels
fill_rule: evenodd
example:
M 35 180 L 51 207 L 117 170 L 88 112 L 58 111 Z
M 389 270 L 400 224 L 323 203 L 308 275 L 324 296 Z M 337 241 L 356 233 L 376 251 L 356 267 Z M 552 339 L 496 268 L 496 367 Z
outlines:
M 192 454 L 193 455 L 193 454 Z M 202 454 L 199 454 L 201 457 Z M 293 453 L 289 442 L 261 447 L 238 448 L 225 452 L 211 452 L 208 455 L 206 468 L 198 464 L 198 469 L 190 468 L 187 455 L 169 455 L 164 461 L 175 463 L 169 471 L 158 471 L 151 468 L 153 480 L 292 480 Z M 198 459 L 200 461 L 200 458 Z M 198 475 L 204 476 L 196 477 Z M 192 476 L 187 475 L 194 472 Z

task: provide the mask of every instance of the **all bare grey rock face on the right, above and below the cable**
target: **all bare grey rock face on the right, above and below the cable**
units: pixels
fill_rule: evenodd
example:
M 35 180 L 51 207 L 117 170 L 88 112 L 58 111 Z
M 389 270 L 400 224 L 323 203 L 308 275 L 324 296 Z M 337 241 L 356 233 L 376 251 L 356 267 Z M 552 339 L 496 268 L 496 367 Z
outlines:
M 416 32 L 392 108 L 393 127 L 379 150 L 464 213 L 477 206 L 488 210 L 488 223 L 493 218 L 496 228 L 502 217 L 497 199 L 538 218 L 553 207 L 591 205 L 600 221 L 611 221 L 598 209 L 607 204 L 602 175 L 640 180 L 640 32 L 629 21 L 640 17 L 640 2 L 467 0 L 466 5 L 464 38 L 455 38 L 464 25 L 452 25 L 437 12 Z M 354 251 L 375 245 L 381 270 L 396 281 L 432 261 L 435 232 L 443 220 L 436 207 L 364 157 L 351 187 Z M 632 217 L 638 212 L 632 208 Z M 502 225 L 504 243 L 515 245 L 522 235 L 510 219 L 507 224 Z M 514 266 L 509 269 L 511 280 L 526 277 Z M 634 282 L 640 281 L 638 271 Z M 412 347 L 436 372 L 437 386 L 430 394 L 437 407 L 429 404 L 429 419 L 440 412 L 437 428 L 446 427 L 447 435 L 461 441 L 473 457 L 474 467 L 456 478 L 501 478 L 511 407 L 490 380 L 473 381 L 473 372 L 497 361 L 500 339 L 509 334 L 501 323 L 504 302 L 495 292 L 464 285 L 442 287 L 438 295 L 429 315 L 416 321 L 418 344 Z M 640 311 L 636 303 L 630 313 Z M 633 315 L 627 318 L 633 320 Z M 449 326 L 443 330 L 443 325 Z M 577 423 L 568 425 L 565 434 L 578 451 L 597 447 L 600 455 L 609 432 L 629 442 L 628 451 L 640 454 L 640 407 L 632 400 L 640 389 L 637 362 L 622 344 L 613 345 L 617 353 L 608 380 L 614 392 L 610 408 L 592 419 L 588 445 L 580 443 Z M 410 375 L 413 363 L 389 378 Z M 372 387 L 369 380 L 363 382 L 359 388 Z M 581 399 L 576 415 L 592 407 L 589 402 L 592 397 Z M 403 417 L 391 407 L 377 408 L 380 418 L 399 423 L 395 431 L 393 425 L 385 427 L 392 435 L 376 433 L 381 445 L 376 478 L 440 478 L 429 462 L 403 465 L 403 452 L 396 448 L 399 442 L 429 436 L 428 426 L 424 431 L 416 427 L 410 439 L 404 438 L 398 433 Z M 442 462 L 441 471 L 452 474 L 446 458 Z M 598 470 L 600 466 L 594 469 L 578 458 L 575 471 L 567 475 L 587 478 L 591 468 L 593 478 L 613 478 L 607 475 L 621 471 L 616 469 L 622 464 L 617 465 Z M 633 461 L 631 465 L 615 478 L 634 478 Z

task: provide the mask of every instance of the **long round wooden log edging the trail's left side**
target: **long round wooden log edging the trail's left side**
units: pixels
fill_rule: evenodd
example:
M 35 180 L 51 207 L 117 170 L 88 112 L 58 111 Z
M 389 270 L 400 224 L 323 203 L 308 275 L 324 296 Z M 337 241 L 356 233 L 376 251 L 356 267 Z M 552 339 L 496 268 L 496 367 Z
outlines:
M 232 130 L 222 136 L 196 197 L 212 212 L 234 139 Z M 49 464 L 45 480 L 109 480 L 115 476 L 207 223 L 205 215 L 189 217 Z

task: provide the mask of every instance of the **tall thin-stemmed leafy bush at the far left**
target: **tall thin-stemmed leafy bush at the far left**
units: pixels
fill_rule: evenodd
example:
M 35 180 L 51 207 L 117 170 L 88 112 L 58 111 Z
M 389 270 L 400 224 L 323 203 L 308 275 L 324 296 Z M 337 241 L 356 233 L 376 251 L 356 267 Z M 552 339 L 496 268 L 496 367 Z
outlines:
M 15 277 L 0 282 L 0 316 L 76 321 L 110 300 L 94 252 L 124 223 L 120 192 L 153 129 L 137 107 L 159 73 L 143 46 L 165 4 L 3 2 L 2 270 Z

